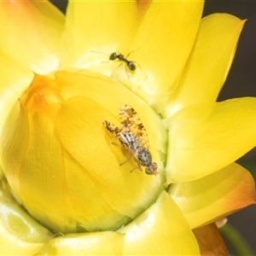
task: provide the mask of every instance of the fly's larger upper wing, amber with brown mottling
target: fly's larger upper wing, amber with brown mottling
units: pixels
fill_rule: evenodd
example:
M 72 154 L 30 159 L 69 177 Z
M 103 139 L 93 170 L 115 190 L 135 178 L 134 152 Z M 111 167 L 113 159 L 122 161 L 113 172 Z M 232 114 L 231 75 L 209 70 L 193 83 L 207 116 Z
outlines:
M 119 119 L 122 132 L 131 132 L 137 137 L 140 146 L 148 149 L 148 135 L 137 112 L 129 105 L 122 105 L 119 109 Z

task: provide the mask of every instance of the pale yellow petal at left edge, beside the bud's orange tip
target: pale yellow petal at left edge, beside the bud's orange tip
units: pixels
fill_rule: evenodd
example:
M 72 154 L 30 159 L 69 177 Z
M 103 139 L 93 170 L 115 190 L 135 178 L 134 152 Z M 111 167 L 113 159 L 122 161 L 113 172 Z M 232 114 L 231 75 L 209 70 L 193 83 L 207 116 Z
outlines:
M 1 4 L 1 3 L 0 3 Z M 3 123 L 23 90 L 31 83 L 32 71 L 0 52 L 0 133 Z

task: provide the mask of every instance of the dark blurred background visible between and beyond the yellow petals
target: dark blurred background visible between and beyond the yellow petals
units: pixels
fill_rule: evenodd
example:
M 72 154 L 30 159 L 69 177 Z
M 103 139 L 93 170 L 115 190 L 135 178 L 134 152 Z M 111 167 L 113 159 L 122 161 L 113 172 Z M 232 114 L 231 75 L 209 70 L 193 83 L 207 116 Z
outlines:
M 63 13 L 67 1 L 52 0 Z M 241 32 L 241 38 L 223 90 L 218 101 L 241 96 L 256 96 L 256 1 L 206 0 L 203 16 L 212 13 L 236 15 L 247 22 Z M 243 156 L 237 162 L 247 168 L 256 177 L 256 149 Z M 247 207 L 229 217 L 229 224 L 241 233 L 256 252 L 256 206 Z M 225 240 L 226 241 L 226 240 Z M 238 255 L 234 247 L 226 241 L 230 254 Z M 255 254 L 256 255 L 256 254 Z

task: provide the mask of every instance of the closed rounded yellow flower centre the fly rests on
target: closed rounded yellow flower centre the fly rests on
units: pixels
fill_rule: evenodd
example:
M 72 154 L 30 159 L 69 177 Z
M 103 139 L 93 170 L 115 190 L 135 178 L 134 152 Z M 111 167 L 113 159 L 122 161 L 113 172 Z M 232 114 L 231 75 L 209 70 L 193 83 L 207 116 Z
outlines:
M 148 133 L 157 176 L 141 172 L 102 125 L 120 127 L 124 104 Z M 165 141 L 160 117 L 113 79 L 88 71 L 36 74 L 3 126 L 3 170 L 16 200 L 50 230 L 114 230 L 164 189 Z

